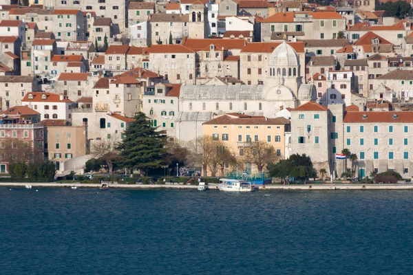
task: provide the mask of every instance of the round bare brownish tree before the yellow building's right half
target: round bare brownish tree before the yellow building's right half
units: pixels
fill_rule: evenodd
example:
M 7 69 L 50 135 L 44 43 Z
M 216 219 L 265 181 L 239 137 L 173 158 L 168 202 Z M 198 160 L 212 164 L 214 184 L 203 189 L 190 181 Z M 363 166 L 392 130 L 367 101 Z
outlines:
M 273 145 L 264 141 L 253 142 L 251 146 L 244 148 L 244 161 L 257 166 L 258 172 L 266 170 L 268 164 L 274 163 L 279 159 Z

